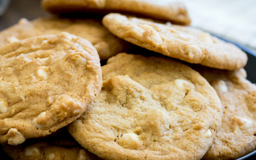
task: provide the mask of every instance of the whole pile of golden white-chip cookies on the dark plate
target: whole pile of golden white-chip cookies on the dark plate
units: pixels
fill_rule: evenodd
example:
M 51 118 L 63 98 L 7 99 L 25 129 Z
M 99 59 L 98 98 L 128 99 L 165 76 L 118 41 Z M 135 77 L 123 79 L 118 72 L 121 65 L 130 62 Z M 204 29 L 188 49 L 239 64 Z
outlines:
M 183 4 L 42 6 L 89 18 L 21 19 L 0 32 L 0 143 L 12 159 L 236 159 L 255 150 L 247 55 L 182 26 Z

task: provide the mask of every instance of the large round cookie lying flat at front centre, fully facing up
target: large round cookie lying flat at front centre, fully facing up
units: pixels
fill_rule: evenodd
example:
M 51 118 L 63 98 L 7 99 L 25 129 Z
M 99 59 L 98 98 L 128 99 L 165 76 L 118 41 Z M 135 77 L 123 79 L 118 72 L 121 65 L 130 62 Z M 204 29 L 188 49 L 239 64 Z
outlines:
M 201 159 L 221 126 L 208 82 L 169 58 L 121 53 L 102 66 L 94 103 L 68 126 L 103 159 Z

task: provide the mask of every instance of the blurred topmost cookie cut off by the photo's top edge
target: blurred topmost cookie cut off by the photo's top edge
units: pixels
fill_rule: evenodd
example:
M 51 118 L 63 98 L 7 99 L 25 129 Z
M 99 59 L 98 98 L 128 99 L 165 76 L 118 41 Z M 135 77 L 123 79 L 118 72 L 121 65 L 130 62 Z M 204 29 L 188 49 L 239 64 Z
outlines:
M 166 0 L 43 0 L 45 10 L 54 14 L 67 12 L 124 12 L 189 25 L 191 20 L 181 2 Z

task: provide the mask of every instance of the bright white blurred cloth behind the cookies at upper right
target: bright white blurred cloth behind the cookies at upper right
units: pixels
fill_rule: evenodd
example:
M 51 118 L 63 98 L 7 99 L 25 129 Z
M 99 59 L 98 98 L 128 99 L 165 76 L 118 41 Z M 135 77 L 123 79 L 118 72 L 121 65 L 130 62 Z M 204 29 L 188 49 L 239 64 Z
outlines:
M 191 26 L 256 49 L 256 0 L 181 0 Z

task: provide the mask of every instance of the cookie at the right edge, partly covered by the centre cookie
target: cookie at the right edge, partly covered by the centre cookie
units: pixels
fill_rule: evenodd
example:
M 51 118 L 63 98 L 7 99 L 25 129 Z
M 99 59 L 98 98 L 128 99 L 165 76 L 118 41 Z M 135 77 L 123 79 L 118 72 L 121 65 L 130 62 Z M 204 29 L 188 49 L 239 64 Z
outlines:
M 222 127 L 204 159 L 237 159 L 255 150 L 256 86 L 236 71 L 197 69 L 217 91 L 223 106 Z

